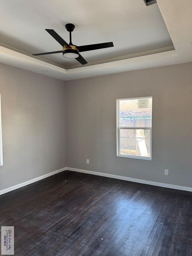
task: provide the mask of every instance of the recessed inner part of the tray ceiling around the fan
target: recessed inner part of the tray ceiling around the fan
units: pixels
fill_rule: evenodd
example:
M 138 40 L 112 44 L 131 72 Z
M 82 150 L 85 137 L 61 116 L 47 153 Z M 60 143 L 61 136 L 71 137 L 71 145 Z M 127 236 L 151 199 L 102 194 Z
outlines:
M 101 8 L 102 7 L 102 8 Z M 158 5 L 146 7 L 143 0 L 6 0 L 1 3 L 1 43 L 26 53 L 62 50 L 45 29 L 54 29 L 69 42 L 65 24 L 74 23 L 76 45 L 113 41 L 114 47 L 82 53 L 91 62 L 172 46 Z M 43 55 L 64 68 L 81 66 L 60 54 Z

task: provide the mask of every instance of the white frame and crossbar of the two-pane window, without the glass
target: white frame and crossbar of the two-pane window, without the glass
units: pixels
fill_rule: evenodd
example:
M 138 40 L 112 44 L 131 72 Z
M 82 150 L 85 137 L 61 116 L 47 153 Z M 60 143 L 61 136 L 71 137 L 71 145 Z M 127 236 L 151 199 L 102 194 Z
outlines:
M 139 98 L 125 98 L 125 99 L 117 99 L 117 156 L 120 157 L 127 157 L 127 158 L 136 158 L 136 159 L 146 159 L 146 160 L 152 160 L 152 126 L 151 127 L 137 127 L 137 126 L 126 126 L 126 127 L 120 127 L 119 125 L 119 101 L 123 101 L 123 100 L 142 100 L 142 99 L 150 99 L 152 98 L 152 96 L 150 97 L 139 97 Z M 152 102 L 153 104 L 153 102 Z M 144 130 L 150 130 L 150 157 L 147 156 L 134 156 L 134 155 L 121 155 L 120 154 L 120 130 L 121 129 L 144 129 Z

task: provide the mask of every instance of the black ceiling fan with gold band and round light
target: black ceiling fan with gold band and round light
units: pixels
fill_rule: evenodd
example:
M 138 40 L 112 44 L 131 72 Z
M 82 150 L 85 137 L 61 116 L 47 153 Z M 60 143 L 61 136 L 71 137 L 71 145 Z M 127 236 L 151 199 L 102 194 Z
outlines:
M 69 32 L 69 38 L 70 38 L 69 44 L 67 44 L 67 42 L 65 42 L 63 38 L 61 38 L 53 29 L 45 29 L 59 44 L 61 44 L 61 46 L 63 47 L 63 50 L 56 51 L 56 52 L 49 52 L 49 53 L 37 53 L 32 55 L 39 56 L 39 55 L 46 55 L 46 54 L 53 54 L 53 53 L 63 53 L 63 57 L 67 59 L 76 59 L 78 62 L 84 65 L 84 64 L 87 64 L 88 62 L 86 62 L 86 60 L 81 56 L 80 54 L 81 52 L 98 50 L 98 49 L 114 46 L 113 42 L 76 46 L 72 44 L 72 41 L 71 41 L 71 32 L 73 32 L 73 30 L 75 29 L 75 26 L 73 24 L 68 23 L 65 25 L 65 28 Z

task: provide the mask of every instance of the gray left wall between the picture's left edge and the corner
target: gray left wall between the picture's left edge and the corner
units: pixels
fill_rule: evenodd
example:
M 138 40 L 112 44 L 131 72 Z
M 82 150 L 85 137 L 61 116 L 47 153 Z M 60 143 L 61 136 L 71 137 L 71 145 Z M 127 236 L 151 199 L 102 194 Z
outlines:
M 66 166 L 64 82 L 0 64 L 0 190 Z

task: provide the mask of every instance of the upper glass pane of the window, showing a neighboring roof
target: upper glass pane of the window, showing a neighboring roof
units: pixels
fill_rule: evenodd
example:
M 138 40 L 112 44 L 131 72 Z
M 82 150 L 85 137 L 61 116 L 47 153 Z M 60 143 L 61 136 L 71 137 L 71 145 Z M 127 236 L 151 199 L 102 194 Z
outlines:
M 152 127 L 152 98 L 119 101 L 120 127 Z

